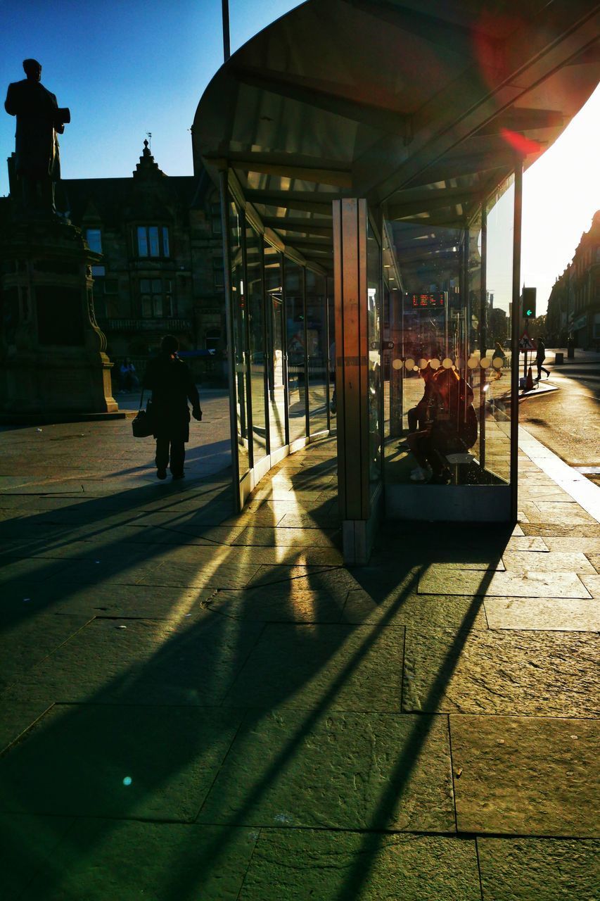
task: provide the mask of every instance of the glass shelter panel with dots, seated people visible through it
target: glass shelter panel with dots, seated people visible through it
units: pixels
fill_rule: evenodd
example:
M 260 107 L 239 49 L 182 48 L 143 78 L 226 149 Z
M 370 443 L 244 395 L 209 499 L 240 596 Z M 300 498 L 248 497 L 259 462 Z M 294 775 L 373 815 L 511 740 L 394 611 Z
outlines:
M 462 228 L 384 223 L 387 483 L 510 480 L 513 262 L 494 207 L 495 198 Z M 501 296 L 486 287 L 490 250 Z

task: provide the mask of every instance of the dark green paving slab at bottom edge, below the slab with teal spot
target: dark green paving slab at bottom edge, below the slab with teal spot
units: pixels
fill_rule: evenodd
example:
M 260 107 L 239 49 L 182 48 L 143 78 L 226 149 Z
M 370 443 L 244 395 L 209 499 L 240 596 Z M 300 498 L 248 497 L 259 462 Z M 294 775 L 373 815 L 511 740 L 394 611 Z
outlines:
M 23 901 L 236 901 L 258 832 L 195 824 L 77 820 Z

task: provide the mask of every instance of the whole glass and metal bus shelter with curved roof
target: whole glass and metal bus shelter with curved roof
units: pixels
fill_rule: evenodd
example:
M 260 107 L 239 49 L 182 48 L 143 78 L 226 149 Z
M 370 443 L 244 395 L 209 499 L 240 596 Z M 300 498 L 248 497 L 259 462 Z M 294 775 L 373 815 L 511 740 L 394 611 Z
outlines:
M 216 73 L 192 135 L 195 162 L 221 187 L 240 508 L 277 460 L 329 431 L 335 390 L 346 562 L 368 560 L 384 512 L 516 520 L 521 323 L 512 316 L 500 417 L 497 403 L 489 413 L 487 262 L 504 254 L 517 311 L 523 168 L 597 84 L 599 10 L 308 0 Z M 512 215 L 494 232 L 503 195 Z M 419 369 L 403 298 L 429 283 L 432 303 L 459 298 L 434 323 L 440 359 L 423 363 L 478 385 L 477 484 L 386 478 L 386 441 Z

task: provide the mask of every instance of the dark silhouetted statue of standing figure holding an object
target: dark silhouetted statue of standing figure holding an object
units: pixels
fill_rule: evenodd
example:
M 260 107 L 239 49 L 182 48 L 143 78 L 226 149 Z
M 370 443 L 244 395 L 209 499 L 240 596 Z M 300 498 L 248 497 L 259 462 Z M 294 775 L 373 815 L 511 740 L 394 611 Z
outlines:
M 8 86 L 5 110 L 16 116 L 15 174 L 23 187 L 25 214 L 55 215 L 54 184 L 60 178 L 59 140 L 71 121 L 67 108 L 40 81 L 41 64 L 25 59 L 26 78 Z

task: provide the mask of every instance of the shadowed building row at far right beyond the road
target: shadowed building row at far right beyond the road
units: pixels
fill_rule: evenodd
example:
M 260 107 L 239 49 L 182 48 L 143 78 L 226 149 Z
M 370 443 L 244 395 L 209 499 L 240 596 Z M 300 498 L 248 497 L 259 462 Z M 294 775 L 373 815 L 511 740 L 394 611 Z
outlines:
M 546 331 L 559 344 L 572 337 L 577 347 L 600 346 L 600 210 L 552 287 Z

